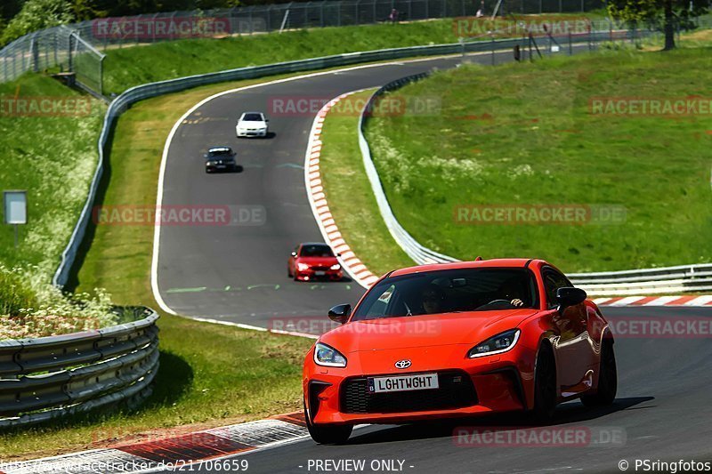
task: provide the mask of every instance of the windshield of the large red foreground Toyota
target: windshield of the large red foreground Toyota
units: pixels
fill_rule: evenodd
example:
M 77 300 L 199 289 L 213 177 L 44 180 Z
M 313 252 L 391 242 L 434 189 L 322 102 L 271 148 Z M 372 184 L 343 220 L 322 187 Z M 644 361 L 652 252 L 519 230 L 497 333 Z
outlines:
M 528 269 L 451 269 L 385 278 L 368 291 L 353 320 L 537 307 Z

